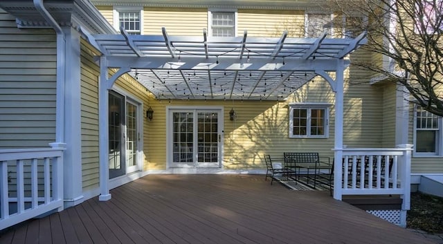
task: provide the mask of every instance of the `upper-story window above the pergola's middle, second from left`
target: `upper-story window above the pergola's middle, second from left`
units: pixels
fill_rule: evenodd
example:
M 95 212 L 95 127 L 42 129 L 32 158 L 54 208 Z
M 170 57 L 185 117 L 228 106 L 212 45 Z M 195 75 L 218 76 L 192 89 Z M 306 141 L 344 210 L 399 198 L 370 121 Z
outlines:
M 210 11 L 209 26 L 213 37 L 235 37 L 236 32 L 235 11 Z

